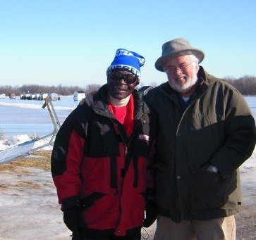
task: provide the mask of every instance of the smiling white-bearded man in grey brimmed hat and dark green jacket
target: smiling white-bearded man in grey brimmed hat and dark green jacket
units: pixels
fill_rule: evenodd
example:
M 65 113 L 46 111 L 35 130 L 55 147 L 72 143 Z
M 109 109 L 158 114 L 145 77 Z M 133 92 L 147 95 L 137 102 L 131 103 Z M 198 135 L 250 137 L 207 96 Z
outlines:
M 157 118 L 154 240 L 236 239 L 255 120 L 237 89 L 199 65 L 204 56 L 185 39 L 166 42 L 155 67 L 169 81 L 145 96 Z

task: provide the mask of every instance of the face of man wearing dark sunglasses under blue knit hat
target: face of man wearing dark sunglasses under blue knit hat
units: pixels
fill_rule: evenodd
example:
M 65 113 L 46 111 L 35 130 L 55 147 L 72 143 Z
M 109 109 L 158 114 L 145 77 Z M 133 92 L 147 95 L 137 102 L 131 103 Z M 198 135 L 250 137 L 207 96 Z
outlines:
M 127 71 L 111 71 L 107 77 L 107 88 L 109 94 L 118 100 L 125 99 L 132 94 L 135 87 L 138 85 L 138 79 Z M 133 82 L 133 83 L 130 83 Z

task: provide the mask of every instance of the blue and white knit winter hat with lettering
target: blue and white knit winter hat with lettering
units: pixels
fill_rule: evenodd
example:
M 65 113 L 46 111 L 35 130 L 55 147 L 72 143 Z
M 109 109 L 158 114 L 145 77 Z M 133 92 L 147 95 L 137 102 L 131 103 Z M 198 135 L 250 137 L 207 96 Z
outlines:
M 106 70 L 106 75 L 108 75 L 109 71 L 111 70 L 121 68 L 122 70 L 128 70 L 133 75 L 138 77 L 138 80 L 140 80 L 140 67 L 142 67 L 144 63 L 145 58 L 140 56 L 138 53 L 128 51 L 126 49 L 117 49 L 113 62 Z

